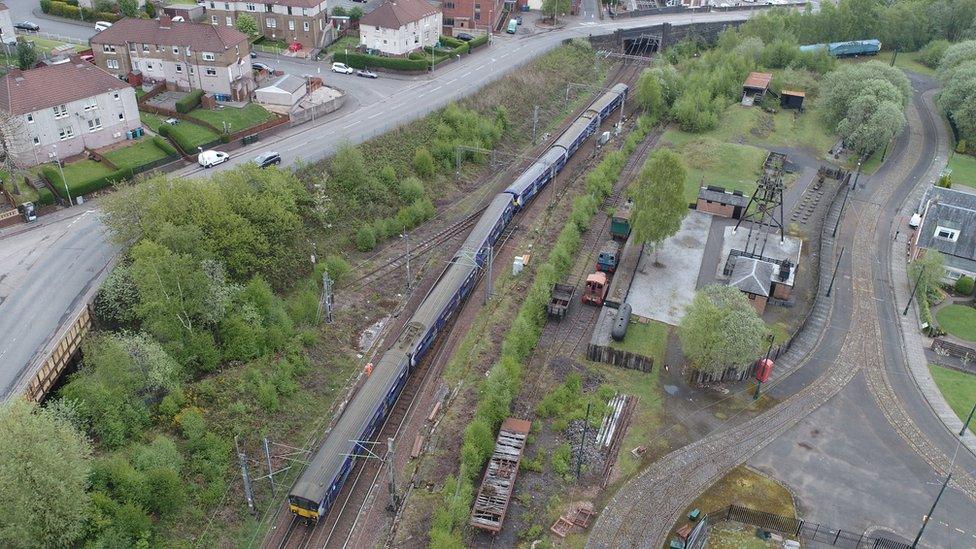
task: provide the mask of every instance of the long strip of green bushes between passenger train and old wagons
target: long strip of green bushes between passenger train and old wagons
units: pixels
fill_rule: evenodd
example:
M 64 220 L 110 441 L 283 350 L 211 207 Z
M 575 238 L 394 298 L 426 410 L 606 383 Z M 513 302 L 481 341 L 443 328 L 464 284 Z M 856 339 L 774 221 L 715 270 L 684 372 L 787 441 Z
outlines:
M 431 547 L 459 547 L 460 528 L 467 523 L 474 493 L 474 481 L 495 446 L 495 432 L 508 416 L 512 400 L 522 382 L 522 364 L 530 357 L 538 343 L 546 322 L 546 305 L 552 285 L 563 280 L 573 266 L 579 252 L 582 234 L 589 227 L 600 203 L 613 191 L 627 158 L 651 130 L 653 123 L 645 119 L 628 136 L 620 151 L 613 151 L 586 176 L 586 194 L 573 201 L 569 222 L 556 239 L 546 262 L 536 270 L 515 321 L 505 334 L 501 357 L 492 366 L 488 378 L 478 392 L 474 417 L 464 430 L 461 445 L 459 478 L 448 479 L 442 491 L 443 501 L 434 510 L 430 529 Z M 460 487 L 457 482 L 462 483 Z M 455 494 L 458 494 L 456 497 Z

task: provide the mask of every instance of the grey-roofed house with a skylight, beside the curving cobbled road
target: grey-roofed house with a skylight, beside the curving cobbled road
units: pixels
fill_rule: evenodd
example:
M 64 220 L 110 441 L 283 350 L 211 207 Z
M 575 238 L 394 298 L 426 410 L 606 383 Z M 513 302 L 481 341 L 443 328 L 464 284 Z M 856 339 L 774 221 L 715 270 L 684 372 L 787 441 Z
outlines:
M 922 219 L 911 238 L 911 260 L 926 250 L 945 256 L 945 281 L 976 278 L 976 195 L 931 187 L 922 198 Z

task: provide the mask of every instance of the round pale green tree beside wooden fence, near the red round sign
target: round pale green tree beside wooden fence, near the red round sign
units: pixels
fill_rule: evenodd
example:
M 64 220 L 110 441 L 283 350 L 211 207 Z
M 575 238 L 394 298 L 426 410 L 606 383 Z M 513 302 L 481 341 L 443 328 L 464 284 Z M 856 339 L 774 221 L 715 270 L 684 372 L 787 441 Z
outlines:
M 710 374 L 755 360 L 768 334 L 746 296 L 724 285 L 699 290 L 678 327 L 685 356 Z

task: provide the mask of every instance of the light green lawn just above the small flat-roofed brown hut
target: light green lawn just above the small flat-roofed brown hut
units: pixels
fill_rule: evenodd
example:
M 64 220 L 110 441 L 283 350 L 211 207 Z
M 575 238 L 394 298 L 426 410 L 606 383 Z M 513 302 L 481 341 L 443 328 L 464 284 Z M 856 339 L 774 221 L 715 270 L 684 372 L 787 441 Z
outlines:
M 686 139 L 687 135 L 670 129 L 664 134 L 664 143 L 678 153 L 688 170 L 684 192 L 688 203 L 697 199 L 702 185 L 718 185 L 746 195 L 755 190 L 768 151 L 711 137 Z

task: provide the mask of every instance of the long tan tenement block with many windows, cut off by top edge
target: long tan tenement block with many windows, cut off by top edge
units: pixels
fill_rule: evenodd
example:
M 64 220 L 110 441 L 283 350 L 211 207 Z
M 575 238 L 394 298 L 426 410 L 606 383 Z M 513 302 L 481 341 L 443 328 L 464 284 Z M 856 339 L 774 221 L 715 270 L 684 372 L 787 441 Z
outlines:
M 265 38 L 305 49 L 322 48 L 335 38 L 326 0 L 274 0 L 272 2 L 220 2 L 208 0 L 206 20 L 211 25 L 234 27 L 237 17 L 250 14 Z

